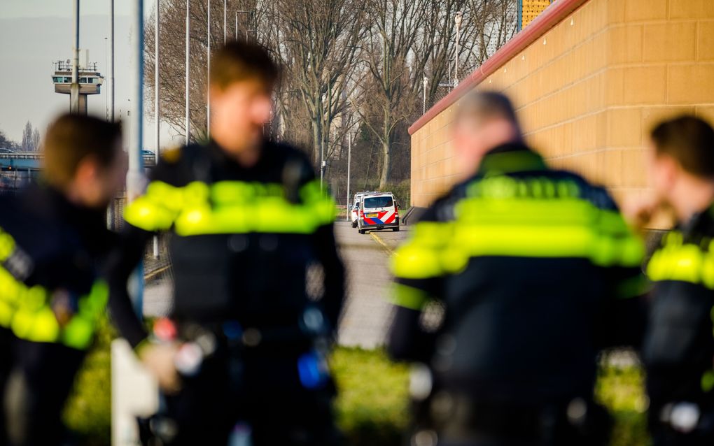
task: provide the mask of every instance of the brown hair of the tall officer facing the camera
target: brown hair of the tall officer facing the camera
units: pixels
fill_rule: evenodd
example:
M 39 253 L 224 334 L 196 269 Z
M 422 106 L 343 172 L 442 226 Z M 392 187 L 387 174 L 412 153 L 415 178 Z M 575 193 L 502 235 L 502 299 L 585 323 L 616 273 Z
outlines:
M 231 41 L 216 50 L 211 59 L 211 85 L 224 89 L 231 83 L 255 79 L 272 88 L 278 66 L 263 46 Z

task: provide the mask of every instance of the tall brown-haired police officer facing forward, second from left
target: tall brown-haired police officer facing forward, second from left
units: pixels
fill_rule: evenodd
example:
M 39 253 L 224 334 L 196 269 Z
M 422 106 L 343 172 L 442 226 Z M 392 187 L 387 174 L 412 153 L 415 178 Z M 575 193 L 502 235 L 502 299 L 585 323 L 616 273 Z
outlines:
M 212 61 L 211 139 L 164 154 L 126 208 L 130 233 L 111 280 L 112 293 L 126 293 L 146 240 L 170 233 L 174 307 L 154 338 L 181 345 L 181 390 L 166 396 L 154 434 L 224 445 L 241 422 L 256 446 L 332 445 L 324 354 L 343 300 L 335 206 L 303 153 L 263 137 L 278 77 L 265 49 L 232 42 Z M 314 265 L 318 300 L 306 290 Z M 120 329 L 141 350 L 151 340 L 125 315 Z

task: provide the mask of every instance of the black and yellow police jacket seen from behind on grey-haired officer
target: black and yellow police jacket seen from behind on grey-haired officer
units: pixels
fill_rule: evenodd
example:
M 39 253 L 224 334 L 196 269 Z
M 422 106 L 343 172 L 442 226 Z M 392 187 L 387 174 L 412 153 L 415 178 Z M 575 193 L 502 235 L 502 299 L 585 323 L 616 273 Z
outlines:
M 604 189 L 495 148 L 396 251 L 388 348 L 481 402 L 587 398 L 600 349 L 637 342 L 643 252 Z

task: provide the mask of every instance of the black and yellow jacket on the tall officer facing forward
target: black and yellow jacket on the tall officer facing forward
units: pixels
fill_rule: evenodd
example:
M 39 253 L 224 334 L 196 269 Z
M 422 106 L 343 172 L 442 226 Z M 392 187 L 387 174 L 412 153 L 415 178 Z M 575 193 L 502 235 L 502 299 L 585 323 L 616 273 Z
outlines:
M 128 241 L 114 268 L 112 293 L 124 292 L 123 275 L 149 236 L 169 232 L 176 320 L 298 325 L 311 304 L 308 270 L 321 265 L 323 293 L 312 298 L 321 298 L 334 327 L 343 300 L 335 212 L 306 156 L 289 146 L 264 143 L 249 167 L 214 142 L 169 151 L 146 191 L 126 207 Z M 139 342 L 139 328 L 126 319 L 120 330 Z

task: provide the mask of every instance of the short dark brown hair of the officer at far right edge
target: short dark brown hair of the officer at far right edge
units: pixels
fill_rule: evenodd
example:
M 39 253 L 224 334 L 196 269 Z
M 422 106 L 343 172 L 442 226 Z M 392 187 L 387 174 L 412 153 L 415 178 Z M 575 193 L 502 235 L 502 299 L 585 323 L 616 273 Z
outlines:
M 706 121 L 680 116 L 659 123 L 650 136 L 658 155 L 671 156 L 692 175 L 714 179 L 714 129 Z

